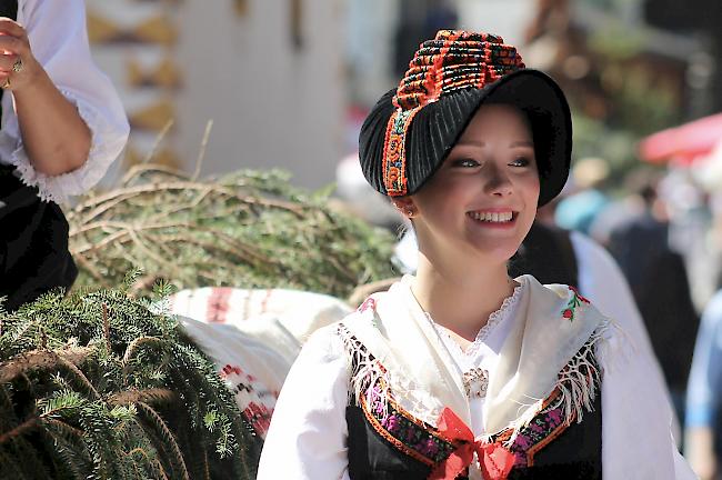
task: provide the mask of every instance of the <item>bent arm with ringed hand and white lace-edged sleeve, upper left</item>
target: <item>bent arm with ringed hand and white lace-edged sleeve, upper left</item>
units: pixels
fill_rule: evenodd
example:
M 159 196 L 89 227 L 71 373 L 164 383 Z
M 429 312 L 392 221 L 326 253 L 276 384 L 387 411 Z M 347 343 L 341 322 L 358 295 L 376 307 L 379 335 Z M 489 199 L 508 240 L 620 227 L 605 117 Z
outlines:
M 21 26 L 21 27 L 20 27 Z M 128 120 L 90 56 L 82 0 L 19 2 L 0 22 L 0 158 L 43 200 L 62 202 L 94 186 L 128 139 Z M 12 66 L 20 58 L 20 71 Z M 9 69 L 8 69 L 9 67 Z M 4 77 L 2 77 L 4 74 Z

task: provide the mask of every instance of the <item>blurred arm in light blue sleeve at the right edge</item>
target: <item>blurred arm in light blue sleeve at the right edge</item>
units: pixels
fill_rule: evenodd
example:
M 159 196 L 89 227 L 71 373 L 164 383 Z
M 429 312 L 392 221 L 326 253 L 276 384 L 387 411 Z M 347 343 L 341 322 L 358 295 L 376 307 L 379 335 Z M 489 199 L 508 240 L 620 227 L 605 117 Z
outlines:
M 721 322 L 722 294 L 718 293 L 702 316 L 686 394 L 684 454 L 702 480 L 715 478 L 719 471 L 714 419 L 722 392 Z

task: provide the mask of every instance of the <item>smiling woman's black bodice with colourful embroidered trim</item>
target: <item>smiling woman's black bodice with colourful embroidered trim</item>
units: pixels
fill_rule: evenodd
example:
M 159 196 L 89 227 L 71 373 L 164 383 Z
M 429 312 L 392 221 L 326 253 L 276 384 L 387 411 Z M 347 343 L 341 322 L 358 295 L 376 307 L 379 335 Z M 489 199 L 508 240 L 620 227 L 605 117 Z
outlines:
M 566 424 L 560 407 L 542 410 L 520 430 L 508 448 L 515 457 L 509 480 L 601 480 L 602 409 L 601 389 L 596 387 L 593 409 L 584 412 L 581 422 Z M 555 394 L 548 404 L 553 406 Z M 359 406 L 347 407 L 345 418 L 352 480 L 425 479 L 458 447 L 393 401 L 384 409 L 362 399 Z M 508 438 L 502 433 L 493 440 L 501 443 Z

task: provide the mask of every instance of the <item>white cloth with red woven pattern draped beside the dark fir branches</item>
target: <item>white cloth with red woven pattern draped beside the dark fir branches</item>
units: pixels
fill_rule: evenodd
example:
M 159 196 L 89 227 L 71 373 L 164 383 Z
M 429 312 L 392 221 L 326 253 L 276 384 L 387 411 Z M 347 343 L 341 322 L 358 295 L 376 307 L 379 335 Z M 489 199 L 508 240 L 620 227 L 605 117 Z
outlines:
M 320 293 L 224 287 L 179 291 L 169 308 L 213 360 L 261 438 L 301 344 L 351 312 L 343 301 Z

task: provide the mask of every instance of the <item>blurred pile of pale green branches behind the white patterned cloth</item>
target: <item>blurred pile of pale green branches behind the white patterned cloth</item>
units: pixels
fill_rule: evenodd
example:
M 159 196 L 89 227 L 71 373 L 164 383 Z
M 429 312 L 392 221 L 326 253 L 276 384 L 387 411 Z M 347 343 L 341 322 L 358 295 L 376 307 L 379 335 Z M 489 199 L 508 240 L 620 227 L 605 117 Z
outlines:
M 393 237 L 279 171 L 239 171 L 195 181 L 157 166 L 68 212 L 77 286 L 110 287 L 141 267 L 131 291 L 158 279 L 179 288 L 293 288 L 347 297 L 392 277 Z

